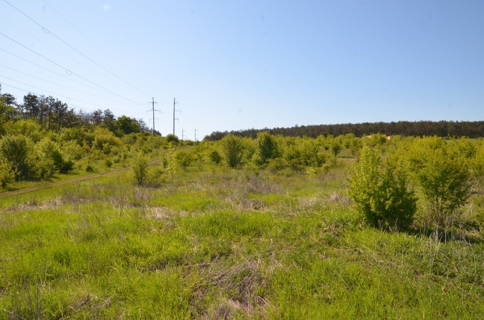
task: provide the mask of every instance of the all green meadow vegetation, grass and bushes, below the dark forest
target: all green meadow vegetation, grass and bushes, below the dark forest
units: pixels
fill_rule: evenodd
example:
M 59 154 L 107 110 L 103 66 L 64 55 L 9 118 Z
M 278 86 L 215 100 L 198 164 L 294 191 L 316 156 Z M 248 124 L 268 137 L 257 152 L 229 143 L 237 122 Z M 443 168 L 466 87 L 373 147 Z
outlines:
M 132 170 L 0 193 L 0 319 L 484 313 L 482 139 L 183 142 L 127 117 L 5 117 L 4 191 Z

